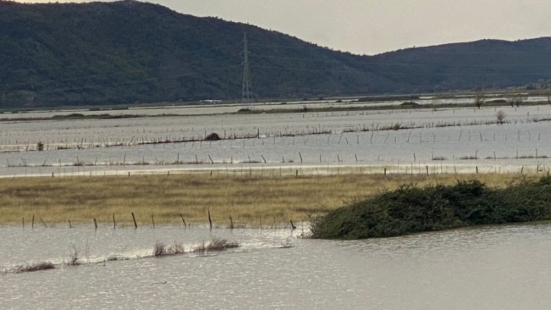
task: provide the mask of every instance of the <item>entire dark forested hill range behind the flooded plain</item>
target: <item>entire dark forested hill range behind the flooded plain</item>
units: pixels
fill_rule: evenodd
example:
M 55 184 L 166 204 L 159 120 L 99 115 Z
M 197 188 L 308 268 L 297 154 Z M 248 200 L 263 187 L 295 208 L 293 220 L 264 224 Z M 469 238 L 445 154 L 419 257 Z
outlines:
M 0 107 L 239 99 L 243 34 L 257 98 L 430 92 L 551 79 L 551 39 L 358 56 L 137 1 L 0 0 Z

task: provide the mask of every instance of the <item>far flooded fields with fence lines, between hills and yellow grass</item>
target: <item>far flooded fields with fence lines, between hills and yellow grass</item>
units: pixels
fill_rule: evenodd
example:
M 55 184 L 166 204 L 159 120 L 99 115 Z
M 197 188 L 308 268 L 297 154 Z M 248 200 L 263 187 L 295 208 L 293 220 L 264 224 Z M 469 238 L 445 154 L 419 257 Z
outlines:
M 0 175 L 545 172 L 550 119 L 539 105 L 10 121 L 0 123 Z M 222 140 L 202 141 L 212 133 Z

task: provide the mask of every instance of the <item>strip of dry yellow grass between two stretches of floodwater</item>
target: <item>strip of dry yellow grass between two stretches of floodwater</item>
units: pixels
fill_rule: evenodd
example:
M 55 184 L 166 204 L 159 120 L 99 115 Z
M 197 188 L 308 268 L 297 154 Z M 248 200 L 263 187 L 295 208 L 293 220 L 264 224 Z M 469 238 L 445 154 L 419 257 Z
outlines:
M 111 225 L 132 224 L 131 212 L 139 224 L 207 223 L 211 212 L 214 225 L 226 227 L 229 216 L 236 226 L 300 223 L 312 214 L 322 214 L 355 199 L 366 198 L 399 185 L 416 183 L 451 184 L 477 178 L 491 187 L 503 187 L 521 178 L 519 174 L 435 174 L 391 175 L 347 174 L 340 176 L 209 176 L 155 175 L 132 177 L 64 177 L 0 179 L 0 223 L 35 225 L 45 223 Z

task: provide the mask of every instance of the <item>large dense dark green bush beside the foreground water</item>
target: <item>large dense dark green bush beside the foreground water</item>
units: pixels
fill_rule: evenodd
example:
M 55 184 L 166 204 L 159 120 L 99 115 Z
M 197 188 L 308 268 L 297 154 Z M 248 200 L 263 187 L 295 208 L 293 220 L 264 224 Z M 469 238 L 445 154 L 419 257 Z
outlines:
M 492 189 L 479 180 L 403 185 L 313 220 L 312 237 L 363 239 L 551 219 L 551 177 Z

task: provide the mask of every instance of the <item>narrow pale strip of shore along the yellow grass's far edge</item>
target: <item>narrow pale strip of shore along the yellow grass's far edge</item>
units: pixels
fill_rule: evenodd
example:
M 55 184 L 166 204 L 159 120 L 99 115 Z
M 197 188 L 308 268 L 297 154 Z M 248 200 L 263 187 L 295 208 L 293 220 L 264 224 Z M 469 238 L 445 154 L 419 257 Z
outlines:
M 324 165 L 309 163 L 198 163 L 167 165 L 29 165 L 6 167 L 6 169 L 38 169 L 37 173 L 0 174 L 1 178 L 55 178 L 73 176 L 156 176 L 156 175 L 194 175 L 209 176 L 249 176 L 249 177 L 282 177 L 282 176 L 332 176 L 340 174 L 368 175 L 434 175 L 434 174 L 545 174 L 548 172 L 548 157 L 541 158 L 507 158 L 461 160 L 466 163 L 434 160 L 417 163 L 358 163 L 356 165 L 329 163 Z M 486 163 L 484 161 L 487 161 Z M 507 161 L 514 161 L 507 163 Z M 63 170 L 63 171 L 62 171 Z

